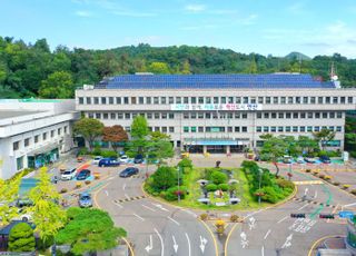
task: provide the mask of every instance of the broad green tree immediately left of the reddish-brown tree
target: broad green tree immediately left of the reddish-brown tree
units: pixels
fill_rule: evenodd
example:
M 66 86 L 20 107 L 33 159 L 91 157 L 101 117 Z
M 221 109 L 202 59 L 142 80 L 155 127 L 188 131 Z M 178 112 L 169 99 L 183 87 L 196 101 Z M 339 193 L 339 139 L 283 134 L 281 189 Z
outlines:
M 73 132 L 82 136 L 89 145 L 91 151 L 93 141 L 102 135 L 103 125 L 101 121 L 92 118 L 81 118 L 75 124 Z

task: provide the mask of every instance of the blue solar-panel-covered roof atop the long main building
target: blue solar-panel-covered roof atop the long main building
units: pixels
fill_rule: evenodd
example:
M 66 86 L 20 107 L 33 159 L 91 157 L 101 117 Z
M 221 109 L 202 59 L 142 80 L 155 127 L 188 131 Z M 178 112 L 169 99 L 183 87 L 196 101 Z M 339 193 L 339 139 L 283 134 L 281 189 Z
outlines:
M 335 88 L 300 73 L 268 75 L 122 75 L 102 80 L 97 89 L 284 89 L 284 88 Z

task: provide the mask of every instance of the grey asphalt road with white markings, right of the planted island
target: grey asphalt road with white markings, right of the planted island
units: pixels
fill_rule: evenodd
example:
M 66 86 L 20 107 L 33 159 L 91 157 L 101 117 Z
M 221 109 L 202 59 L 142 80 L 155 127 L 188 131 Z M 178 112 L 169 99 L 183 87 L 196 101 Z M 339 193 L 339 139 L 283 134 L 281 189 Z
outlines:
M 286 175 L 286 171 L 281 174 Z M 294 173 L 293 180 L 310 179 L 315 178 Z M 246 214 L 244 224 L 237 225 L 231 233 L 225 255 L 305 256 L 318 238 L 345 235 L 343 219 L 320 219 L 319 214 L 337 214 L 343 205 L 355 203 L 354 197 L 323 184 L 299 185 L 296 198 L 275 208 Z M 291 218 L 290 214 L 305 214 L 306 218 Z

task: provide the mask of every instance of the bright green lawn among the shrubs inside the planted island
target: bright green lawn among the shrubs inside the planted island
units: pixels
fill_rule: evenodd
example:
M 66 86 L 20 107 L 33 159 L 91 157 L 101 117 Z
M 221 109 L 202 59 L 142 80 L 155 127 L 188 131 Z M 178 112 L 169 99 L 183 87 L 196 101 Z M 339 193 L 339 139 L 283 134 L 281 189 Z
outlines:
M 225 201 L 228 203 L 228 191 L 224 193 L 222 198 L 214 198 L 212 193 L 209 194 L 209 199 L 211 201 L 210 205 L 205 205 L 198 201 L 201 197 L 201 189 L 200 185 L 197 180 L 204 178 L 204 170 L 205 168 L 194 168 L 189 174 L 184 176 L 184 185 L 188 188 L 189 195 L 186 196 L 185 199 L 180 200 L 180 203 L 174 201 L 172 204 L 179 205 L 182 207 L 189 208 L 197 208 L 197 209 L 205 209 L 205 210 L 244 210 L 244 209 L 251 209 L 258 207 L 266 207 L 270 204 L 261 203 L 260 206 L 258 201 L 255 199 L 253 195 L 249 193 L 249 186 L 245 173 L 239 168 L 224 168 L 227 170 L 233 171 L 234 179 L 238 180 L 238 189 L 236 191 L 237 198 L 241 201 L 237 205 L 226 205 L 226 206 L 216 206 L 215 203 L 217 201 Z

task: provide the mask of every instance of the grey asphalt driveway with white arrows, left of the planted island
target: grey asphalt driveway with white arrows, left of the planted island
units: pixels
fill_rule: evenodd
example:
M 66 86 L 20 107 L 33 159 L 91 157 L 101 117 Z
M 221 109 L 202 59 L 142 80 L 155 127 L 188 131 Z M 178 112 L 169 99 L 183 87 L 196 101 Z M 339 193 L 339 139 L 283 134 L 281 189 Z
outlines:
M 136 255 L 216 255 L 214 239 L 195 213 L 142 198 L 145 175 L 120 178 L 118 171 L 97 193 L 96 200 L 128 232 Z

